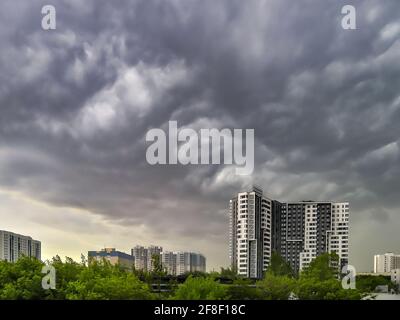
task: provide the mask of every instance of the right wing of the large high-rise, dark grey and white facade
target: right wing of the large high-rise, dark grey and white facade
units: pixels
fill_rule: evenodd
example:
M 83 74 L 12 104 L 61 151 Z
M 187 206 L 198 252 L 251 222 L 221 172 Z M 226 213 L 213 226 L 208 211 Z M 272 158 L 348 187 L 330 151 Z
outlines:
M 278 252 L 295 272 L 317 256 L 335 252 L 340 267 L 348 263 L 349 204 L 301 201 L 282 205 L 281 246 Z

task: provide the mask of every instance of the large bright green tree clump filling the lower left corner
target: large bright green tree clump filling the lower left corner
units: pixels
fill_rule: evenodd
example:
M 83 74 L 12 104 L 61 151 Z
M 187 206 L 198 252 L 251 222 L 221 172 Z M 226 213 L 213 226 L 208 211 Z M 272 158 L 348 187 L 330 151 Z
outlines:
M 0 261 L 0 299 L 153 299 L 147 284 L 108 262 L 90 266 L 55 257 L 56 289 L 42 288 L 43 262 L 22 257 L 16 263 Z

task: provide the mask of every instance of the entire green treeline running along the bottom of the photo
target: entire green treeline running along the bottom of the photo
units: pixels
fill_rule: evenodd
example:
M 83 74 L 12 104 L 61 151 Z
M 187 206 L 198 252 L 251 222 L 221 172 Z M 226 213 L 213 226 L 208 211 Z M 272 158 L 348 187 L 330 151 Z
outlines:
M 361 299 L 382 279 L 364 279 L 357 290 L 344 290 L 338 280 L 337 256 L 324 254 L 298 277 L 277 254 L 262 280 L 238 277 L 230 269 L 183 278 L 167 277 L 161 270 L 127 272 L 107 261 L 80 263 L 60 257 L 43 263 L 23 257 L 16 263 L 0 261 L 0 299 Z M 56 289 L 42 288 L 42 268 L 56 270 Z M 157 291 L 157 288 L 159 291 Z M 161 290 L 161 288 L 164 288 Z

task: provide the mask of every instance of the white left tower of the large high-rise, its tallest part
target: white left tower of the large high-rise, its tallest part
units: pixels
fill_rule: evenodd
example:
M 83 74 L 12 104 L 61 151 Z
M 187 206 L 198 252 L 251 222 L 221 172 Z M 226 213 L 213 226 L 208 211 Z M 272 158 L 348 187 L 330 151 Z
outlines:
M 273 201 L 253 187 L 229 202 L 230 259 L 239 275 L 261 278 L 271 258 Z

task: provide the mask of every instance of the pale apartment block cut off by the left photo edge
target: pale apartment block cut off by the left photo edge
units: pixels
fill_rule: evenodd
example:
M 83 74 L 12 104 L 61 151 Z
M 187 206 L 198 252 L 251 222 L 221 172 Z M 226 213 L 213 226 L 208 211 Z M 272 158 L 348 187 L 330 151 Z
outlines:
M 16 262 L 22 256 L 41 259 L 41 243 L 29 236 L 0 230 L 0 260 Z

